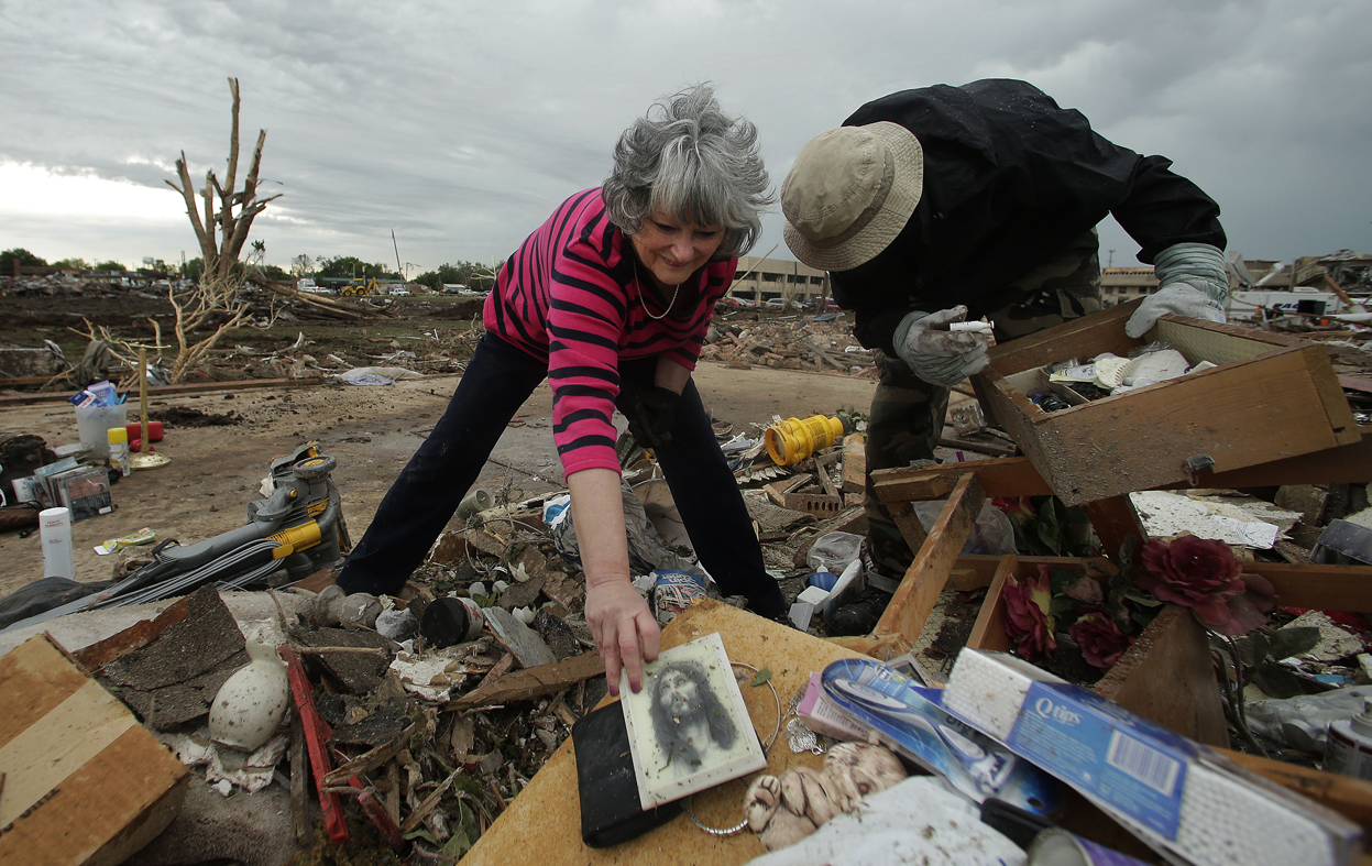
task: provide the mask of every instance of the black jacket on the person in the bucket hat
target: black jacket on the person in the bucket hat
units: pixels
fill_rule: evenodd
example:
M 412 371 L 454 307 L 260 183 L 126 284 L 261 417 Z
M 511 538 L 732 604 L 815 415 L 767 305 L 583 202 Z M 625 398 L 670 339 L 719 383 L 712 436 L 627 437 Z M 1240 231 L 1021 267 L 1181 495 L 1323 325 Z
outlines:
M 919 139 L 925 183 L 904 231 L 873 262 L 833 273 L 858 339 L 893 354 L 911 310 L 966 303 L 971 317 L 1008 302 L 1006 285 L 1114 214 L 1139 259 L 1174 243 L 1225 246 L 1220 206 L 1170 170 L 1091 129 L 1024 81 L 934 85 L 870 102 L 845 126 L 900 124 Z

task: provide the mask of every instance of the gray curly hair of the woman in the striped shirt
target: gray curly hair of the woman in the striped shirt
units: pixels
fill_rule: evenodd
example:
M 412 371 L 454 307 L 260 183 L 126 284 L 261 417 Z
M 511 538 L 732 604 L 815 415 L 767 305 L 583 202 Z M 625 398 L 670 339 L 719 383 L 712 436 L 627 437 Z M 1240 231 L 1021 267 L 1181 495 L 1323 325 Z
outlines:
M 624 130 L 601 195 L 626 235 L 637 235 L 653 211 L 723 225 L 715 258 L 724 259 L 757 242 L 759 215 L 777 200 L 767 183 L 757 128 L 724 114 L 715 89 L 698 84 L 659 99 Z

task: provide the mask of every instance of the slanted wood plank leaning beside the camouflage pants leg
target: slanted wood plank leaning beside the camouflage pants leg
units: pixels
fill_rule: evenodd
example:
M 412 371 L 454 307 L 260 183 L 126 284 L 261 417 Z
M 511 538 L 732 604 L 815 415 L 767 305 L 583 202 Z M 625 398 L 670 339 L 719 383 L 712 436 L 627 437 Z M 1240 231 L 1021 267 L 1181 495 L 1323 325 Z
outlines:
M 974 473 L 969 472 L 958 482 L 933 531 L 915 553 L 915 561 L 873 629 L 873 637 L 899 633 L 911 644 L 919 638 L 985 501 Z

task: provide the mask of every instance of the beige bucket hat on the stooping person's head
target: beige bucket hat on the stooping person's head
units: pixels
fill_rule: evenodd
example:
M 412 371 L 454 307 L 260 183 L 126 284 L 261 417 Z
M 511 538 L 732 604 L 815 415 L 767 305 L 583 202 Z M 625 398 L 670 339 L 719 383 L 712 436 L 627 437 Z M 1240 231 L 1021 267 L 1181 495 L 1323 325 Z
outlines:
M 851 270 L 906 228 L 925 187 L 925 152 L 899 124 L 827 129 L 796 156 L 781 187 L 782 231 L 811 268 Z

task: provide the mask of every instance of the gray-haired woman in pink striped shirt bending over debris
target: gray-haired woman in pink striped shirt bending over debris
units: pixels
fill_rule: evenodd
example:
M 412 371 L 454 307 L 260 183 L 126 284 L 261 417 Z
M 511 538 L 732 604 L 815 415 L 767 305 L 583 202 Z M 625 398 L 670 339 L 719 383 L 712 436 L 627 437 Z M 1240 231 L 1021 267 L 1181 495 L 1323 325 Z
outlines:
M 659 629 L 630 582 L 612 416 L 652 447 L 701 564 L 726 594 L 779 618 L 785 598 L 691 383 L 715 302 L 772 199 L 752 124 L 708 85 L 654 103 L 598 189 L 567 199 L 505 262 L 482 336 L 434 432 L 391 486 L 338 578 L 395 593 L 447 524 L 534 388 L 553 388 L 553 439 L 586 572 L 586 622 L 612 694 L 642 688 Z

